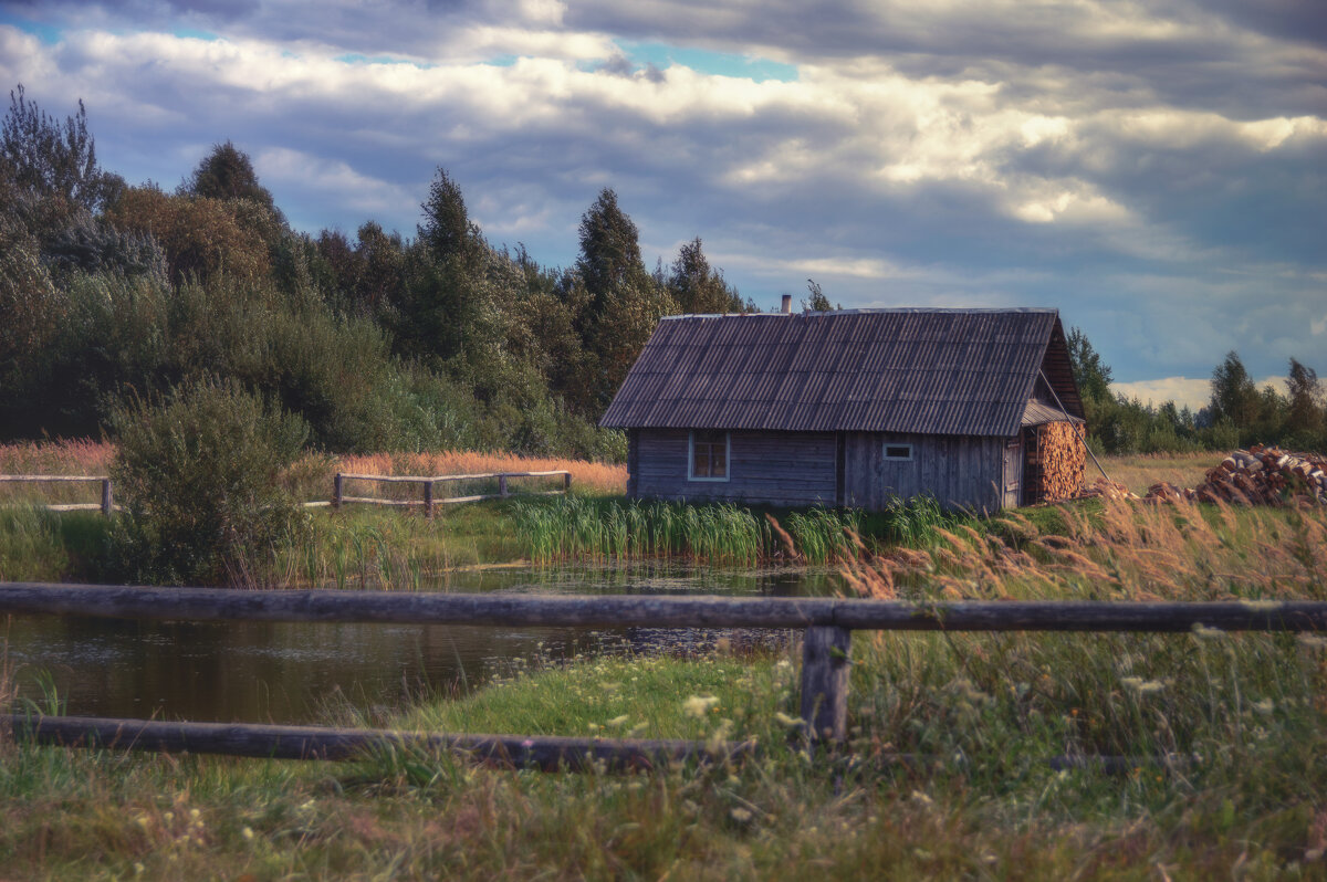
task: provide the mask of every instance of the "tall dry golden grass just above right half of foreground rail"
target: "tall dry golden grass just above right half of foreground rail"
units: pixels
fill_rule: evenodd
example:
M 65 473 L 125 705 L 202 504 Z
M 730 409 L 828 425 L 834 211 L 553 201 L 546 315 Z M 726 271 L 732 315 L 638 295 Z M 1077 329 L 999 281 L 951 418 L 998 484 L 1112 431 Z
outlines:
M 1064 507 L 1066 535 L 1019 513 L 1006 537 L 937 531 L 945 544 L 852 565 L 877 598 L 1324 599 L 1327 511 L 1103 500 L 1100 516 Z

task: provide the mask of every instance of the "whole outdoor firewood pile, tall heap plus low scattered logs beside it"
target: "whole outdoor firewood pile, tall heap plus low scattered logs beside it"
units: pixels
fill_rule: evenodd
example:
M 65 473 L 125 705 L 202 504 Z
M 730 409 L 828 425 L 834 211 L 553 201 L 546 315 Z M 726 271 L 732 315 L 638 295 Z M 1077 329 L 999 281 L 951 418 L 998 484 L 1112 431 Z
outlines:
M 1083 496 L 1139 499 L 1124 484 L 1096 479 Z M 1327 505 L 1327 456 L 1294 454 L 1279 447 L 1254 444 L 1237 450 L 1208 472 L 1194 487 L 1168 481 L 1153 484 L 1143 497 L 1153 503 L 1234 503 L 1237 505 Z

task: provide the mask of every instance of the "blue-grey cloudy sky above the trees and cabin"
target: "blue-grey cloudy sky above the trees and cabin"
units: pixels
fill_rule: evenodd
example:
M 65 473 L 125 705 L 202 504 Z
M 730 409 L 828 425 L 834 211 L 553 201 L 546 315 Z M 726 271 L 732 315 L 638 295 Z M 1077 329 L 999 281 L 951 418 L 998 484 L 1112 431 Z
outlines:
M 575 260 L 613 187 L 764 309 L 1056 306 L 1144 399 L 1327 375 L 1322 0 L 0 0 L 0 84 L 174 187 L 231 139 L 292 224 L 414 235 L 442 166 Z

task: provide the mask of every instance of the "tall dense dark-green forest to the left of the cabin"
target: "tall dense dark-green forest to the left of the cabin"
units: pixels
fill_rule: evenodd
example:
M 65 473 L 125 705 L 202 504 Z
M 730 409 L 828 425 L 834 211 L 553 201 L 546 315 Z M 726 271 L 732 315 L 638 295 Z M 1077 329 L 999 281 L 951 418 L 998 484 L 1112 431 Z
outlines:
M 602 414 L 658 318 L 754 312 L 699 239 L 646 269 L 605 188 L 575 265 L 495 247 L 438 168 L 413 239 L 295 231 L 249 157 L 216 145 L 174 191 L 97 162 L 11 93 L 0 126 L 0 434 L 96 436 L 129 399 L 236 383 L 328 451 L 620 459 Z

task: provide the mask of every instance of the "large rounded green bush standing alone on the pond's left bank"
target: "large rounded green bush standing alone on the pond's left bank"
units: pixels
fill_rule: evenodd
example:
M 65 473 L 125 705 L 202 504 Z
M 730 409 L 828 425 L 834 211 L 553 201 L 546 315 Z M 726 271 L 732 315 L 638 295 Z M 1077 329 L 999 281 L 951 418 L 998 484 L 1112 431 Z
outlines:
M 253 562 L 300 524 L 279 476 L 308 426 L 239 385 L 204 378 L 157 401 L 135 397 L 111 426 L 126 577 L 244 584 Z

